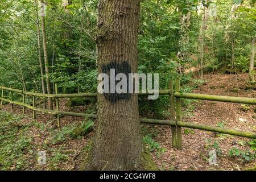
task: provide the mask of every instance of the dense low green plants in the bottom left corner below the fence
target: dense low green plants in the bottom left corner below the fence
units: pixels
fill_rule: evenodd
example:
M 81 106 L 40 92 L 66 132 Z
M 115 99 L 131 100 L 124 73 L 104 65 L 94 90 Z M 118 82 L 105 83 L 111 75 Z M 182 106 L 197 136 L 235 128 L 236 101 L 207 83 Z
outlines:
M 31 125 L 24 125 L 21 117 L 9 113 L 0 113 L 0 169 L 26 169 L 26 154 L 32 154 L 32 138 L 27 137 Z

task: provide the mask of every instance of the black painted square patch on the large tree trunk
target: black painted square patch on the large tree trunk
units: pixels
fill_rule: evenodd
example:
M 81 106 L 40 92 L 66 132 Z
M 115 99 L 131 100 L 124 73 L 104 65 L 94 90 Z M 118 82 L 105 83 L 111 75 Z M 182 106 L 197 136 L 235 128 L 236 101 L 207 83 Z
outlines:
M 110 80 L 110 69 L 114 69 L 115 70 L 115 75 L 114 75 L 114 80 Z M 117 63 L 117 61 L 112 61 L 109 64 L 104 64 L 102 65 L 101 68 L 102 73 L 106 73 L 109 76 L 109 93 L 104 93 L 104 97 L 106 98 L 106 100 L 115 103 L 119 100 L 128 100 L 131 97 L 131 94 L 129 93 L 129 73 L 131 73 L 131 67 L 130 64 L 127 61 L 123 61 L 122 63 Z M 119 74 L 119 73 L 123 73 L 126 75 L 127 78 L 127 90 L 126 93 L 117 93 L 116 90 L 114 93 L 110 93 L 110 89 L 111 89 L 111 81 L 114 81 L 114 86 L 117 85 L 117 83 L 119 81 L 115 80 L 115 77 Z

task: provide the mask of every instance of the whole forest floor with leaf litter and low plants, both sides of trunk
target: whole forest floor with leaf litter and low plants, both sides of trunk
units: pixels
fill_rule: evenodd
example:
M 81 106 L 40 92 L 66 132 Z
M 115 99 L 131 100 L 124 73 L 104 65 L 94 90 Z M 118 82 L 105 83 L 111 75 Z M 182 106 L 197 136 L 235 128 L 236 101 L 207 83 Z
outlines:
M 256 97 L 256 90 L 247 83 L 247 74 L 205 75 L 205 83 L 194 93 L 221 96 Z M 238 89 L 237 89 L 238 88 Z M 70 110 L 61 101 L 61 110 Z M 0 106 L 1 107 L 1 106 Z M 93 133 L 71 137 L 82 118 L 63 117 L 61 128 L 49 116 L 19 106 L 0 108 L 0 169 L 2 170 L 76 170 L 90 148 Z M 83 112 L 85 107 L 75 107 Z M 183 121 L 211 126 L 256 131 L 254 106 L 213 101 L 189 101 L 183 107 Z M 87 110 L 90 110 L 88 106 Z M 10 114 L 12 113 L 12 114 Z M 143 140 L 161 170 L 243 170 L 255 166 L 252 140 L 207 131 L 183 129 L 183 150 L 171 147 L 171 128 L 142 125 Z M 73 135 L 72 135 L 73 136 Z M 255 147 L 255 146 L 254 146 Z M 217 151 L 217 164 L 208 163 L 209 151 Z M 46 152 L 46 165 L 38 164 L 38 152 Z

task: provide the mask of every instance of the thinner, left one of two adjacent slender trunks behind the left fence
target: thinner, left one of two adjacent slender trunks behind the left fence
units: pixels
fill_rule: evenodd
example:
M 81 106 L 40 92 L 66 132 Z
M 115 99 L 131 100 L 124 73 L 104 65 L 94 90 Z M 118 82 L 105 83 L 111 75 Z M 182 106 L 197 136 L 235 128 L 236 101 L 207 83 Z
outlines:
M 42 63 L 42 55 L 41 55 L 41 40 L 40 40 L 40 26 L 39 26 L 39 18 L 38 18 L 38 1 L 35 0 L 36 6 L 36 28 L 38 30 L 38 60 L 41 72 L 41 85 L 42 85 L 42 92 L 46 93 L 46 86 L 44 84 L 44 68 Z M 43 108 L 46 109 L 46 99 L 44 98 L 44 105 Z

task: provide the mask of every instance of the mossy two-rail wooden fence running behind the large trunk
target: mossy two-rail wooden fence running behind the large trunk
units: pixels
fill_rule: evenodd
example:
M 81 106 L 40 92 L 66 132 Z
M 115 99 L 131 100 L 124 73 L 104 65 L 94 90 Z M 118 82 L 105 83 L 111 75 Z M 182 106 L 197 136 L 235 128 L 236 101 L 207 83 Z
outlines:
M 171 126 L 171 133 L 172 133 L 172 147 L 178 148 L 181 150 L 182 143 L 181 143 L 181 127 L 187 127 L 191 129 L 198 129 L 204 131 L 212 131 L 216 133 L 223 133 L 229 135 L 236 135 L 240 137 L 246 138 L 254 138 L 256 139 L 256 133 L 249 132 L 249 131 L 241 131 L 241 130 L 234 130 L 229 129 L 226 127 L 216 127 L 216 126 L 208 126 L 202 125 L 197 123 L 189 123 L 183 122 L 181 119 L 181 98 L 188 98 L 188 99 L 196 99 L 196 100 L 208 100 L 208 101 L 219 101 L 219 102 L 233 102 L 233 103 L 240 103 L 240 104 L 250 104 L 256 105 L 256 98 L 246 98 L 246 97 L 230 97 L 230 96 L 213 96 L 208 94 L 193 94 L 193 93 L 181 93 L 180 92 L 180 80 L 177 78 L 175 81 L 175 90 L 174 90 L 174 80 L 170 80 L 168 83 L 169 89 L 168 90 L 159 90 L 159 95 L 168 95 L 170 100 L 170 115 L 171 119 L 169 120 L 160 120 L 160 119 L 147 119 L 147 118 L 140 118 L 141 123 L 147 124 L 154 124 L 154 125 L 167 125 Z M 84 113 L 73 113 L 67 111 L 60 111 L 59 107 L 59 99 L 60 98 L 75 98 L 75 97 L 97 97 L 97 93 L 77 93 L 77 94 L 58 94 L 57 84 L 55 84 L 55 94 L 42 94 L 42 93 L 34 93 L 34 92 L 24 92 L 23 90 L 13 89 L 13 88 L 6 88 L 2 85 L 1 87 L 2 94 L 1 94 L 1 102 L 3 101 L 9 102 L 13 108 L 13 104 L 20 105 L 23 107 L 23 114 L 25 108 L 33 110 L 33 118 L 36 118 L 36 111 L 53 114 L 56 115 L 57 126 L 60 127 L 60 115 L 69 115 L 74 117 L 86 117 L 86 118 L 96 118 L 96 114 L 84 114 Z M 4 91 L 11 92 L 11 100 L 5 98 Z M 22 94 L 23 101 L 18 102 L 13 100 L 13 92 Z M 150 95 L 149 93 L 140 93 L 140 95 Z M 26 96 L 32 97 L 32 106 L 30 104 L 26 104 Z M 35 100 L 36 97 L 43 97 L 43 98 L 55 98 L 56 108 L 55 110 L 48 110 L 36 107 Z M 176 100 L 176 101 L 175 101 Z

